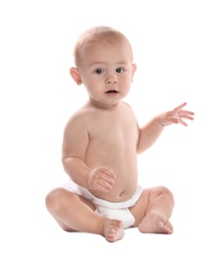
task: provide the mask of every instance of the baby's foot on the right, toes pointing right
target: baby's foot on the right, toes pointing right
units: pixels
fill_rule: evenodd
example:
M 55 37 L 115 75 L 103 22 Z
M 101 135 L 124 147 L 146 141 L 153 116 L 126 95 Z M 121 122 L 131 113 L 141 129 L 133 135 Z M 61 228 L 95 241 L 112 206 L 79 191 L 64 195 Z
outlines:
M 148 213 L 138 225 L 142 233 L 172 233 L 173 225 L 169 220 L 158 213 Z

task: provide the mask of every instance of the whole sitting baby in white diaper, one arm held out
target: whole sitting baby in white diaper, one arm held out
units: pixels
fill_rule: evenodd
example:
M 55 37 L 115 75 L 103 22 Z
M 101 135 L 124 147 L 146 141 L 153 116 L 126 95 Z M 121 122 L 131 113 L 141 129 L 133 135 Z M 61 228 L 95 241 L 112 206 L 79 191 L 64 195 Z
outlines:
M 62 161 L 69 181 L 46 196 L 46 207 L 67 231 L 103 235 L 114 242 L 124 229 L 143 233 L 173 232 L 171 191 L 137 184 L 137 154 L 150 148 L 165 126 L 193 120 L 186 102 L 138 127 L 123 101 L 136 73 L 132 46 L 122 33 L 94 27 L 81 34 L 70 73 L 83 85 L 87 102 L 68 121 Z

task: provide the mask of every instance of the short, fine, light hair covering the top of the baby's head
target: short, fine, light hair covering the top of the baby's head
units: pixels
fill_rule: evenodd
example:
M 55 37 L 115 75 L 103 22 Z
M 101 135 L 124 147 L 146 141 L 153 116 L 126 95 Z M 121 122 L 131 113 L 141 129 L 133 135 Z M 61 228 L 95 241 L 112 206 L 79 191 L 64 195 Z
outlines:
M 74 48 L 74 57 L 75 57 L 75 65 L 79 68 L 81 63 L 84 61 L 83 59 L 83 51 L 88 47 L 91 43 L 94 44 L 104 44 L 104 45 L 111 45 L 116 42 L 123 42 L 127 43 L 129 49 L 131 51 L 132 61 L 133 61 L 133 51 L 131 47 L 131 43 L 128 38 L 122 33 L 117 30 L 114 30 L 110 27 L 100 26 L 100 27 L 93 27 L 86 32 L 83 32 L 79 37 L 75 48 Z

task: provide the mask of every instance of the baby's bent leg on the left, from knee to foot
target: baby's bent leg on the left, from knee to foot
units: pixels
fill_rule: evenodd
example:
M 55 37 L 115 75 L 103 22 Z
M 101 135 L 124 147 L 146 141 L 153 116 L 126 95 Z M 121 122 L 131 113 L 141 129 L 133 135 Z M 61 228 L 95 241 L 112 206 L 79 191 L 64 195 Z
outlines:
M 64 230 L 97 233 L 108 241 L 117 241 L 124 236 L 122 222 L 98 215 L 90 202 L 64 188 L 57 188 L 47 195 L 46 207 Z

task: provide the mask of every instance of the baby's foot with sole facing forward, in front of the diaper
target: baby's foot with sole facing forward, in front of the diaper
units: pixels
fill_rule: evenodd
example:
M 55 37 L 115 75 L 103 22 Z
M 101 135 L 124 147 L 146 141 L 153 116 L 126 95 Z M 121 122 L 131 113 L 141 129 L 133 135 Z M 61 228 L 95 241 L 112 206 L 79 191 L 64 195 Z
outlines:
M 104 224 L 104 236 L 107 241 L 115 242 L 123 238 L 125 232 L 121 221 L 108 219 Z

